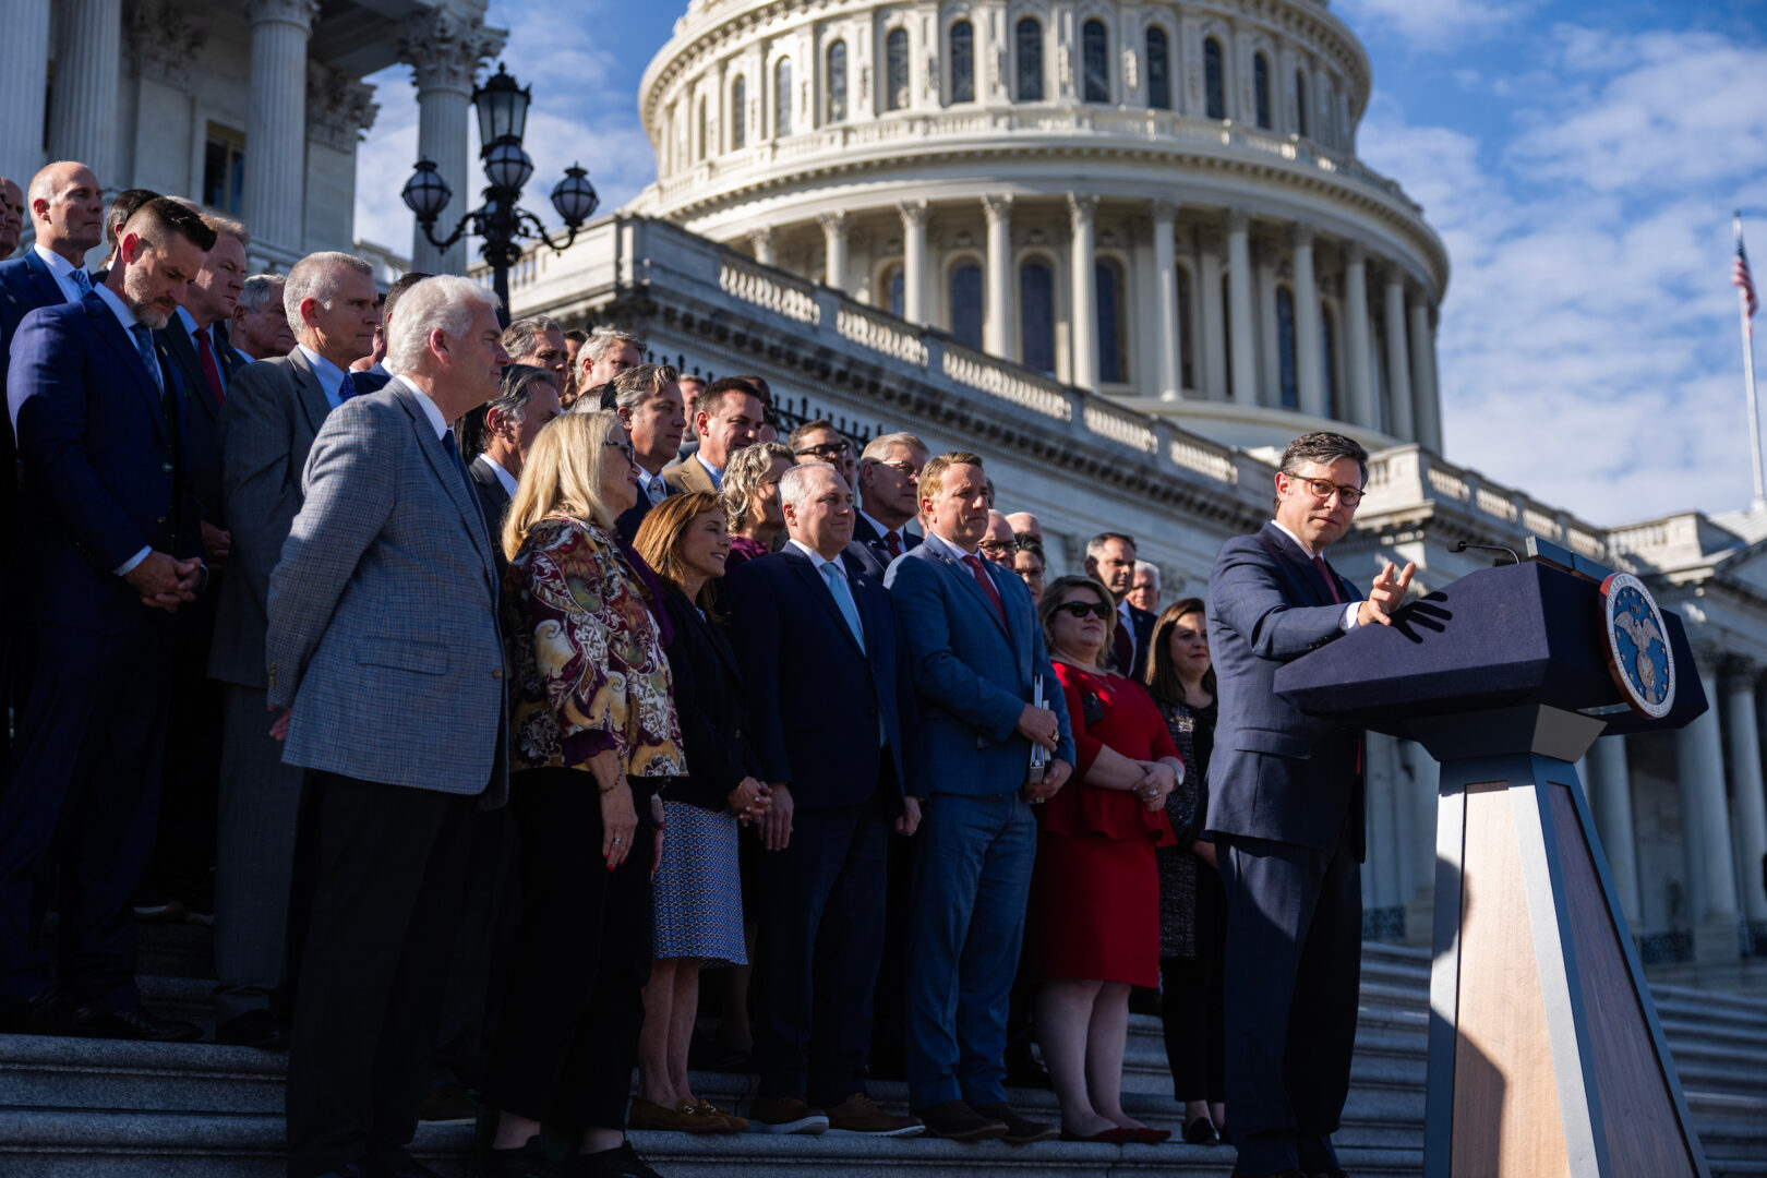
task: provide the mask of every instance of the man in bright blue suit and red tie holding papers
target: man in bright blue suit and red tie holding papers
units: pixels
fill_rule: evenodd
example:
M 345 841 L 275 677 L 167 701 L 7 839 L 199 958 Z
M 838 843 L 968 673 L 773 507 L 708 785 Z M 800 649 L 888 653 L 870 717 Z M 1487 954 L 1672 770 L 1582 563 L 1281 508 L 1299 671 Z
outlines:
M 1060 1130 L 1005 1102 L 1007 1007 L 1037 855 L 1030 805 L 1073 774 L 1074 738 L 1030 590 L 977 553 L 982 461 L 931 459 L 921 516 L 926 540 L 885 579 L 931 766 L 908 934 L 908 1107 L 940 1137 L 1044 1141 Z M 1034 745 L 1051 754 L 1041 774 Z

